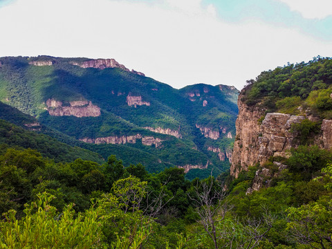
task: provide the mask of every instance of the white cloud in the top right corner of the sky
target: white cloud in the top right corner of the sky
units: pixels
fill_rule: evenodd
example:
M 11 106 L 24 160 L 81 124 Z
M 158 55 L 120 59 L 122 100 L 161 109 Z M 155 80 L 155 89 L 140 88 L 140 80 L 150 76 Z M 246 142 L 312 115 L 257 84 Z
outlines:
M 286 3 L 291 10 L 300 12 L 304 18 L 324 19 L 332 15 L 331 0 L 279 0 Z

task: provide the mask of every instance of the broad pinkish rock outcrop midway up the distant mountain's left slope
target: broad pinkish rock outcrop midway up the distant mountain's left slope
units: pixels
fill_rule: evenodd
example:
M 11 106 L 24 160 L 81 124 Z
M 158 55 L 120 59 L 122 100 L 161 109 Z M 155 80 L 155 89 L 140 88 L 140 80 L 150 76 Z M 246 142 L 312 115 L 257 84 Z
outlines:
M 72 101 L 67 106 L 59 100 L 48 99 L 46 107 L 50 116 L 75 116 L 77 118 L 100 116 L 100 108 L 87 100 Z

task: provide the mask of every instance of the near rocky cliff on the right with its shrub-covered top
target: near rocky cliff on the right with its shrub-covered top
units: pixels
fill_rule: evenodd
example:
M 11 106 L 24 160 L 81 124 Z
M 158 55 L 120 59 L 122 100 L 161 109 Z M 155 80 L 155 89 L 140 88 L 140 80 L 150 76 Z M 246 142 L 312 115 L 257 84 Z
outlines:
M 238 100 L 232 176 L 257 163 L 280 165 L 299 146 L 332 148 L 331 72 L 331 58 L 315 57 L 248 82 Z

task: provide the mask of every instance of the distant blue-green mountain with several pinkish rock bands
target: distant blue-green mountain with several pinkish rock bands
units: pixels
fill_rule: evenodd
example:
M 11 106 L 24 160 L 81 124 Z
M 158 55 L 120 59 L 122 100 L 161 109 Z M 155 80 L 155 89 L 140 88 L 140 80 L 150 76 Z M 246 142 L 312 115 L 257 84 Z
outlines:
M 62 142 L 67 136 L 71 145 L 149 172 L 176 166 L 194 178 L 225 171 L 237 95 L 224 85 L 173 89 L 114 59 L 0 58 L 1 102 L 37 118 Z

